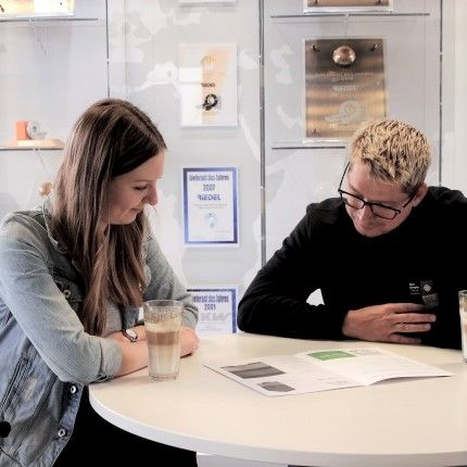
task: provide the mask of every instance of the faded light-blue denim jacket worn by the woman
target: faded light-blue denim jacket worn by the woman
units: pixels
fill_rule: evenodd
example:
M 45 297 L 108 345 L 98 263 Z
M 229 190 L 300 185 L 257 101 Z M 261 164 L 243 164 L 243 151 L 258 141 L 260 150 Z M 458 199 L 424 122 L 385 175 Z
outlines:
M 85 332 L 76 312 L 83 279 L 49 229 L 50 204 L 0 225 L 0 466 L 49 467 L 73 432 L 85 384 L 112 378 L 122 351 Z M 144 300 L 185 302 L 184 325 L 198 310 L 157 242 L 144 242 Z M 123 311 L 135 326 L 139 310 Z

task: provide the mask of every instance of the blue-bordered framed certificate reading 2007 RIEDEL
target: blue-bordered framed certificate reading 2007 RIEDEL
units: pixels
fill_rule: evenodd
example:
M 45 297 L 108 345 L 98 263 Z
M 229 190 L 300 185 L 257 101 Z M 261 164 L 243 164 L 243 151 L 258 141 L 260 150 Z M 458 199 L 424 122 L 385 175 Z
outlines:
M 184 242 L 238 247 L 237 167 L 184 167 Z

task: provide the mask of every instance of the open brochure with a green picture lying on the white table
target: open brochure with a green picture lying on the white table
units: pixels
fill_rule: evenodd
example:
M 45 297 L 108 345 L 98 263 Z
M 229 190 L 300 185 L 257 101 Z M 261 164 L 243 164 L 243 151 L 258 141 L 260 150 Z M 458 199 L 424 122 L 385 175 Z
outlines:
M 392 378 L 452 375 L 376 348 L 329 349 L 206 366 L 265 395 L 328 391 Z

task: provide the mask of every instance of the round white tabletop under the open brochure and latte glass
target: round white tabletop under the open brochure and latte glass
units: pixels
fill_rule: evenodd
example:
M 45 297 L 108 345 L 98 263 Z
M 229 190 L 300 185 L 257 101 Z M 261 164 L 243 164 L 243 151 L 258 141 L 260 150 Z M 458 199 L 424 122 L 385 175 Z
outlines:
M 454 373 L 268 397 L 203 366 L 312 349 L 377 346 Z M 374 342 L 205 337 L 175 381 L 148 369 L 90 386 L 93 408 L 141 437 L 209 454 L 302 466 L 467 465 L 467 364 L 460 351 Z

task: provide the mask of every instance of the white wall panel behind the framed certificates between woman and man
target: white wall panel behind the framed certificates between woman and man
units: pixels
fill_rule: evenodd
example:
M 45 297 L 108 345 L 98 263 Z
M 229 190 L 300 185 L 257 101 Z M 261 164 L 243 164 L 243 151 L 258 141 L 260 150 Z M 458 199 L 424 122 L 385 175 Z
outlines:
M 181 5 L 110 2 L 111 94 L 126 97 L 159 123 L 168 146 L 156 235 L 187 285 L 238 285 L 260 267 L 260 72 L 257 2 Z M 237 43 L 238 126 L 180 127 L 178 46 Z M 237 166 L 240 245 L 186 249 L 181 167 Z

